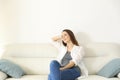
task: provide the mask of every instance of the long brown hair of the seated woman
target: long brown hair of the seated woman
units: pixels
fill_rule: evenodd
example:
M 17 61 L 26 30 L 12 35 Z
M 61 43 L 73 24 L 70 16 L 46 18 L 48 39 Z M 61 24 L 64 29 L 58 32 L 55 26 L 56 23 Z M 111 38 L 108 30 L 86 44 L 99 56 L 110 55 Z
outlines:
M 63 32 L 64 31 L 68 33 L 68 35 L 70 36 L 70 40 L 72 41 L 72 43 L 75 44 L 75 45 L 77 45 L 77 46 L 79 46 L 78 41 L 76 40 L 74 33 L 71 30 L 69 30 L 69 29 L 64 29 Z M 63 43 L 64 46 L 67 45 L 63 41 L 62 41 L 62 43 Z

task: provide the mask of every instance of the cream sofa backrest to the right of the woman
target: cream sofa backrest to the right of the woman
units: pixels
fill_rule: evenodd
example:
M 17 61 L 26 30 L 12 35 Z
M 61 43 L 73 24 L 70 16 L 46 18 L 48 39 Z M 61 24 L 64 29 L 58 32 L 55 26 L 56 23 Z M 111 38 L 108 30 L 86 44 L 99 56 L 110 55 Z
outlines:
M 89 74 L 96 74 L 110 60 L 120 58 L 120 46 L 115 43 L 89 43 L 84 47 Z

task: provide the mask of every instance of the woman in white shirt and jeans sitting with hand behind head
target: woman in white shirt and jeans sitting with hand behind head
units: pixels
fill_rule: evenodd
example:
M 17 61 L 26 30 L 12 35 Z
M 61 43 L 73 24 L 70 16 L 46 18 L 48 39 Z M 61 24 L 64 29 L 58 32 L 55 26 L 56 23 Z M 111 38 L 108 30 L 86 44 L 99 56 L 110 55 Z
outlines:
M 65 29 L 61 37 L 55 36 L 52 40 L 59 44 L 56 47 L 60 50 L 60 54 L 57 60 L 50 63 L 48 80 L 75 80 L 78 77 L 88 76 L 88 71 L 82 62 L 84 50 L 78 44 L 74 33 Z

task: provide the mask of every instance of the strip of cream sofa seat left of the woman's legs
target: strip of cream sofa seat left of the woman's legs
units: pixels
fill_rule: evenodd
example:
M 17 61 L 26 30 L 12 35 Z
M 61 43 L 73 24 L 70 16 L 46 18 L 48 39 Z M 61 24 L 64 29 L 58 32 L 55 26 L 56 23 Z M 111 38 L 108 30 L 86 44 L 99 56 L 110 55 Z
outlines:
M 47 75 L 24 75 L 21 78 L 7 78 L 6 80 L 47 80 Z

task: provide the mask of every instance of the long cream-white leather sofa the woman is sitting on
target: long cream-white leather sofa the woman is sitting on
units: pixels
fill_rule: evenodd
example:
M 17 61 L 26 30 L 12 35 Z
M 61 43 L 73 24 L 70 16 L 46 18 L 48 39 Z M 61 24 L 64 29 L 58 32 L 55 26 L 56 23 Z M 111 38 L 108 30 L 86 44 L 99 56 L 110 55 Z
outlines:
M 84 63 L 89 76 L 80 80 L 120 80 L 105 78 L 96 73 L 111 59 L 120 57 L 120 46 L 115 43 L 89 43 L 84 45 L 86 55 Z M 40 44 L 9 44 L 5 47 L 3 59 L 18 64 L 26 72 L 22 78 L 6 80 L 47 80 L 49 63 L 58 55 L 57 49 L 49 43 Z

